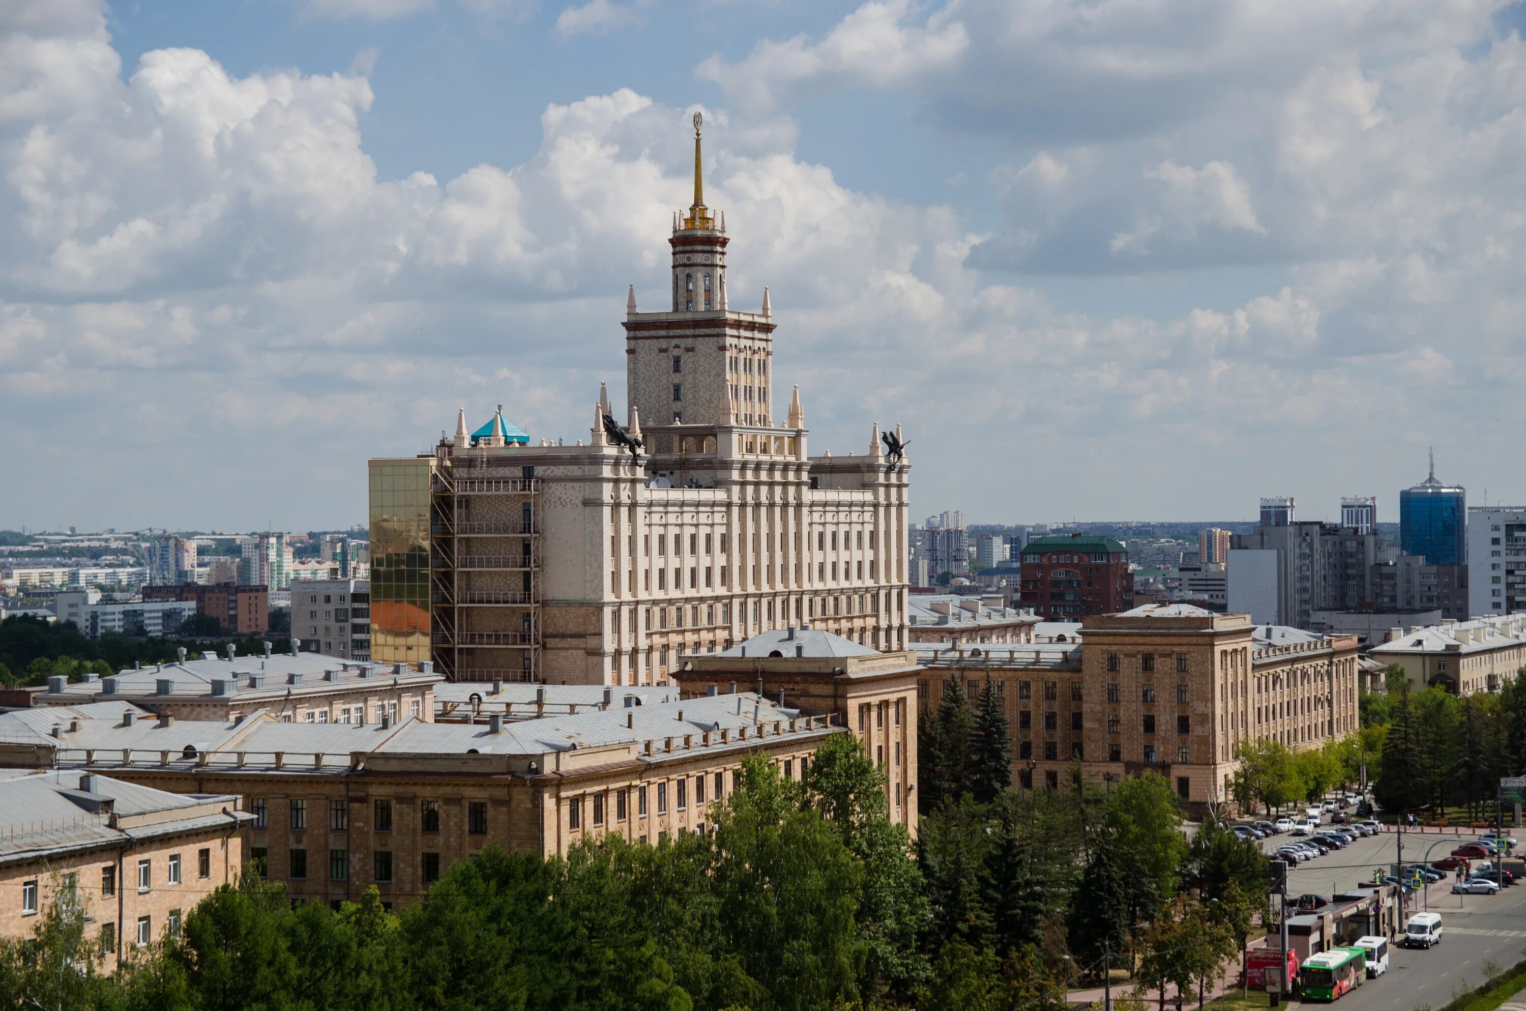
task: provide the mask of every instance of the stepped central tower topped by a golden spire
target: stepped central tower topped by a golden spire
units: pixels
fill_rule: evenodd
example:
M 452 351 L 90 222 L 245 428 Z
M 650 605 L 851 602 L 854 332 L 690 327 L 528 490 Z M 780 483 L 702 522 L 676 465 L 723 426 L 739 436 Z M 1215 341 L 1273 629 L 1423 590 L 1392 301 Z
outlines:
M 626 382 L 649 431 L 667 426 L 774 428 L 774 321 L 768 289 L 755 313 L 731 308 L 726 218 L 705 205 L 703 118 L 694 113 L 694 200 L 673 214 L 667 312 L 626 298 Z M 658 438 L 656 452 L 662 440 Z

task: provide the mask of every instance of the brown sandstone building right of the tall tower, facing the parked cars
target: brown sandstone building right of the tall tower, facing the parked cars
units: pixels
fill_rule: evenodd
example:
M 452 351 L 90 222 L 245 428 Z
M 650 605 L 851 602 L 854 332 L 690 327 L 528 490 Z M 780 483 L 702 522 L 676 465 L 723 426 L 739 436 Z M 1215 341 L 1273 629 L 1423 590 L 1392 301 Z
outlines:
M 989 675 L 1012 727 L 1013 783 L 1054 788 L 1077 764 L 1099 780 L 1154 770 L 1195 811 L 1230 800 L 1242 744 L 1318 747 L 1358 727 L 1354 635 L 1146 605 L 1087 617 L 1067 640 L 922 646 L 920 704 L 935 707 L 951 675 L 974 701 Z

